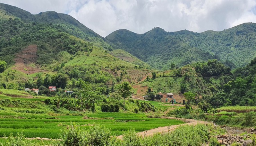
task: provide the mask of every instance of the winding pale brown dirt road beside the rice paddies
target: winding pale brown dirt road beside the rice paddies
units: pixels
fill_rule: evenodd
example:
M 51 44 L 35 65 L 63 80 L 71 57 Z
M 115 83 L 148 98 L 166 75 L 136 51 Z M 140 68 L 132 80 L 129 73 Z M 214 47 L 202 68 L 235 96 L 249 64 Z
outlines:
M 194 119 L 183 119 L 183 118 L 173 118 L 173 117 L 161 117 L 161 118 L 165 118 L 165 119 L 176 119 L 176 120 L 181 120 L 186 122 L 185 124 L 180 124 L 180 125 L 173 125 L 173 126 L 165 126 L 165 127 L 158 127 L 155 129 L 150 129 L 150 130 L 146 130 L 146 131 L 142 131 L 142 132 L 138 132 L 137 135 L 138 136 L 152 136 L 155 133 L 167 133 L 169 131 L 173 131 L 174 129 L 176 129 L 179 126 L 182 125 L 196 125 L 196 124 L 207 124 L 209 122 L 206 121 L 197 121 Z M 117 138 L 122 139 L 123 135 L 119 135 L 117 136 Z

